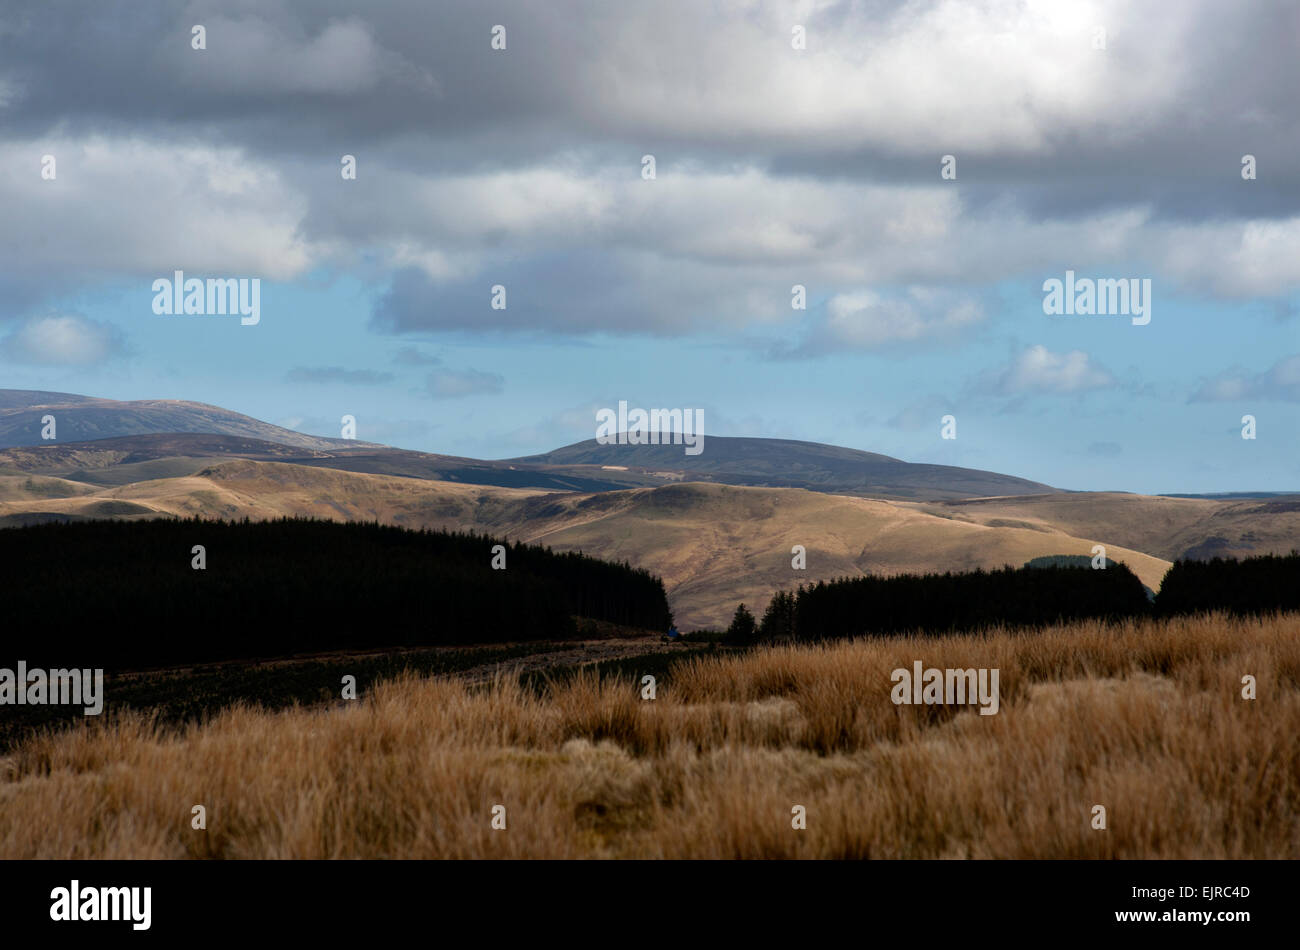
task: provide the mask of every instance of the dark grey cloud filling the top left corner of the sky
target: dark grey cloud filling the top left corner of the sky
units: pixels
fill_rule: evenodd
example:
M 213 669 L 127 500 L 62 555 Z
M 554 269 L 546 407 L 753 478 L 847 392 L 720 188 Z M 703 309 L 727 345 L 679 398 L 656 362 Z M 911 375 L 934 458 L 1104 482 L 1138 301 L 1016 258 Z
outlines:
M 536 4 L 8 4 L 0 75 L 10 134 L 198 135 L 269 155 L 452 139 L 507 155 L 572 101 L 564 69 L 582 45 Z M 485 55 L 510 25 L 507 56 Z M 191 48 L 191 27 L 207 48 Z M 546 125 L 554 125 L 549 120 Z M 560 130 L 538 138 L 559 144 Z M 481 159 L 482 153 L 474 156 Z M 523 157 L 523 156 L 520 156 Z M 465 156 L 462 161 L 468 161 Z

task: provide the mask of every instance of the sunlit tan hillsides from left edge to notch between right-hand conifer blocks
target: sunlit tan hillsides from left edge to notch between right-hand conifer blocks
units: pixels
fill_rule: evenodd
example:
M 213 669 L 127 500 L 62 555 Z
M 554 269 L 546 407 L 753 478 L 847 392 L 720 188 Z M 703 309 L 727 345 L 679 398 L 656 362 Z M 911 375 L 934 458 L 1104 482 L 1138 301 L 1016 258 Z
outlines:
M 628 560 L 664 580 L 684 628 L 723 624 L 738 600 L 766 603 L 776 587 L 864 572 L 966 571 L 1019 565 L 1054 554 L 1089 554 L 1106 543 L 1149 587 L 1169 561 L 1100 534 L 1046 524 L 985 525 L 916 506 L 801 489 L 685 483 L 607 493 L 541 493 L 280 461 L 234 460 L 181 477 L 121 486 L 18 477 L 0 502 L 0 525 L 62 517 L 286 515 L 381 521 L 412 528 L 491 530 L 560 551 Z M 58 486 L 57 490 L 52 489 Z M 807 569 L 790 548 L 807 548 Z

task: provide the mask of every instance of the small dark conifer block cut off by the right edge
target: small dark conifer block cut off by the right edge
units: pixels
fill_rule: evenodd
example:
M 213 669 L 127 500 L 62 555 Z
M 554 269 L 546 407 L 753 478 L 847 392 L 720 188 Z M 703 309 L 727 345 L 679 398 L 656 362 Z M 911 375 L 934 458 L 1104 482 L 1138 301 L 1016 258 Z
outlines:
M 1300 611 L 1300 552 L 1175 561 L 1160 585 L 1157 613 L 1212 610 L 1240 615 Z

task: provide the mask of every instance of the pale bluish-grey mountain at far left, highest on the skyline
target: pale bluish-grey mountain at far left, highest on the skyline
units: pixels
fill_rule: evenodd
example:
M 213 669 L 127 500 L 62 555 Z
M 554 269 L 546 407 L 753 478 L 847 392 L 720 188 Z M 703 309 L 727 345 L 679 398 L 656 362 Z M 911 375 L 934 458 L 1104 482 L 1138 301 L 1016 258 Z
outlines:
M 216 405 L 179 399 L 118 402 L 73 392 L 0 390 L 0 447 L 49 444 L 40 435 L 46 416 L 55 417 L 57 442 L 156 433 L 216 433 L 300 448 L 358 444 L 347 439 L 304 435 Z

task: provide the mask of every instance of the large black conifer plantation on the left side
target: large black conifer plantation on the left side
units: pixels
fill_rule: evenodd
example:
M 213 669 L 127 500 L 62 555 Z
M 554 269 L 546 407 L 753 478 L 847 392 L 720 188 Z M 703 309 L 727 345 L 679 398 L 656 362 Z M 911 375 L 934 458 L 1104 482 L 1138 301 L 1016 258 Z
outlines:
M 194 569 L 192 547 L 205 548 Z M 491 567 L 506 547 L 506 569 Z M 486 534 L 286 519 L 0 530 L 0 665 L 174 665 L 558 639 L 575 617 L 664 630 L 646 571 Z

